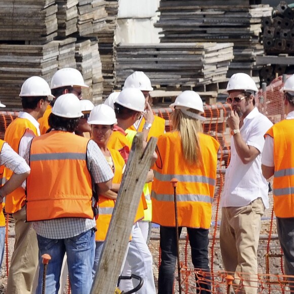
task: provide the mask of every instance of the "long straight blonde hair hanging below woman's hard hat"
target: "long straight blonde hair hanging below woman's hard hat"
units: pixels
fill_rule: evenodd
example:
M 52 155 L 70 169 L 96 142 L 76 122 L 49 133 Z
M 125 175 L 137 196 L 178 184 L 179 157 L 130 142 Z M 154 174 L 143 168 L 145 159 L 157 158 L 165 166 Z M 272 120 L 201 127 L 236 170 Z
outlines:
M 189 108 L 190 112 L 199 114 L 199 111 Z M 173 131 L 178 131 L 181 138 L 182 153 L 190 164 L 201 166 L 202 156 L 198 133 L 202 133 L 201 121 L 183 114 L 180 109 L 174 109 L 171 114 Z

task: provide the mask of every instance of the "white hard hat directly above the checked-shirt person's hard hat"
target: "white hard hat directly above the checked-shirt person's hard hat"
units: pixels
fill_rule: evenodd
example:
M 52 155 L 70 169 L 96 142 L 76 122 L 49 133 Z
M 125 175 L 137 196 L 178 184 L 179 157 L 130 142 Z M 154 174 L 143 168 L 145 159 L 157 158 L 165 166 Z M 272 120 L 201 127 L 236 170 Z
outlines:
M 84 82 L 82 73 L 71 67 L 65 67 L 57 70 L 51 79 L 51 89 L 56 89 L 66 86 L 78 86 L 82 88 L 89 88 Z

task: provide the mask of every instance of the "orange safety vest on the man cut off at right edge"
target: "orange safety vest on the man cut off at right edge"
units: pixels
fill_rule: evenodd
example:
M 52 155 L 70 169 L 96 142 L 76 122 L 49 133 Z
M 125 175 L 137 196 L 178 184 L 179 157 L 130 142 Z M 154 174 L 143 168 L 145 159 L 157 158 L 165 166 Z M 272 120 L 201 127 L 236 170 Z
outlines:
M 294 120 L 283 120 L 265 134 L 274 139 L 274 211 L 277 217 L 294 217 Z

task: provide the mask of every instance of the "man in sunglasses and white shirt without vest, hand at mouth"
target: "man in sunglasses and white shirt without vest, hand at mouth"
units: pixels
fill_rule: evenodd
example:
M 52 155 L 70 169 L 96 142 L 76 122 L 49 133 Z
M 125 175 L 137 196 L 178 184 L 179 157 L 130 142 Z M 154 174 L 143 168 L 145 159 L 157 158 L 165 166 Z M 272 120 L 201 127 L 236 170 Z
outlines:
M 220 250 L 224 267 L 233 275 L 241 272 L 242 293 L 256 293 L 257 248 L 261 216 L 268 208 L 268 184 L 261 171 L 264 134 L 272 123 L 255 107 L 258 92 L 245 73 L 236 73 L 228 82 L 227 102 L 232 105 L 227 123 L 231 128 L 231 161 L 226 170 L 220 205 Z M 238 269 L 237 269 L 238 267 Z M 235 284 L 239 284 L 235 275 Z

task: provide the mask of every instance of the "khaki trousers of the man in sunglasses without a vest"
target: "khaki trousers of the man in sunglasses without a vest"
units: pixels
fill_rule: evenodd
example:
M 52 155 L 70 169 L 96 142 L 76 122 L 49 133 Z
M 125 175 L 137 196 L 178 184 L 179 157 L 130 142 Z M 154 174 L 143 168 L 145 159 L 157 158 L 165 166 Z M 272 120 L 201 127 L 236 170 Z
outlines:
M 234 281 L 237 293 L 255 294 L 258 290 L 257 249 L 264 210 L 261 198 L 247 206 L 222 208 L 220 251 L 227 272 L 234 275 L 238 267 L 240 274 L 235 273 Z

